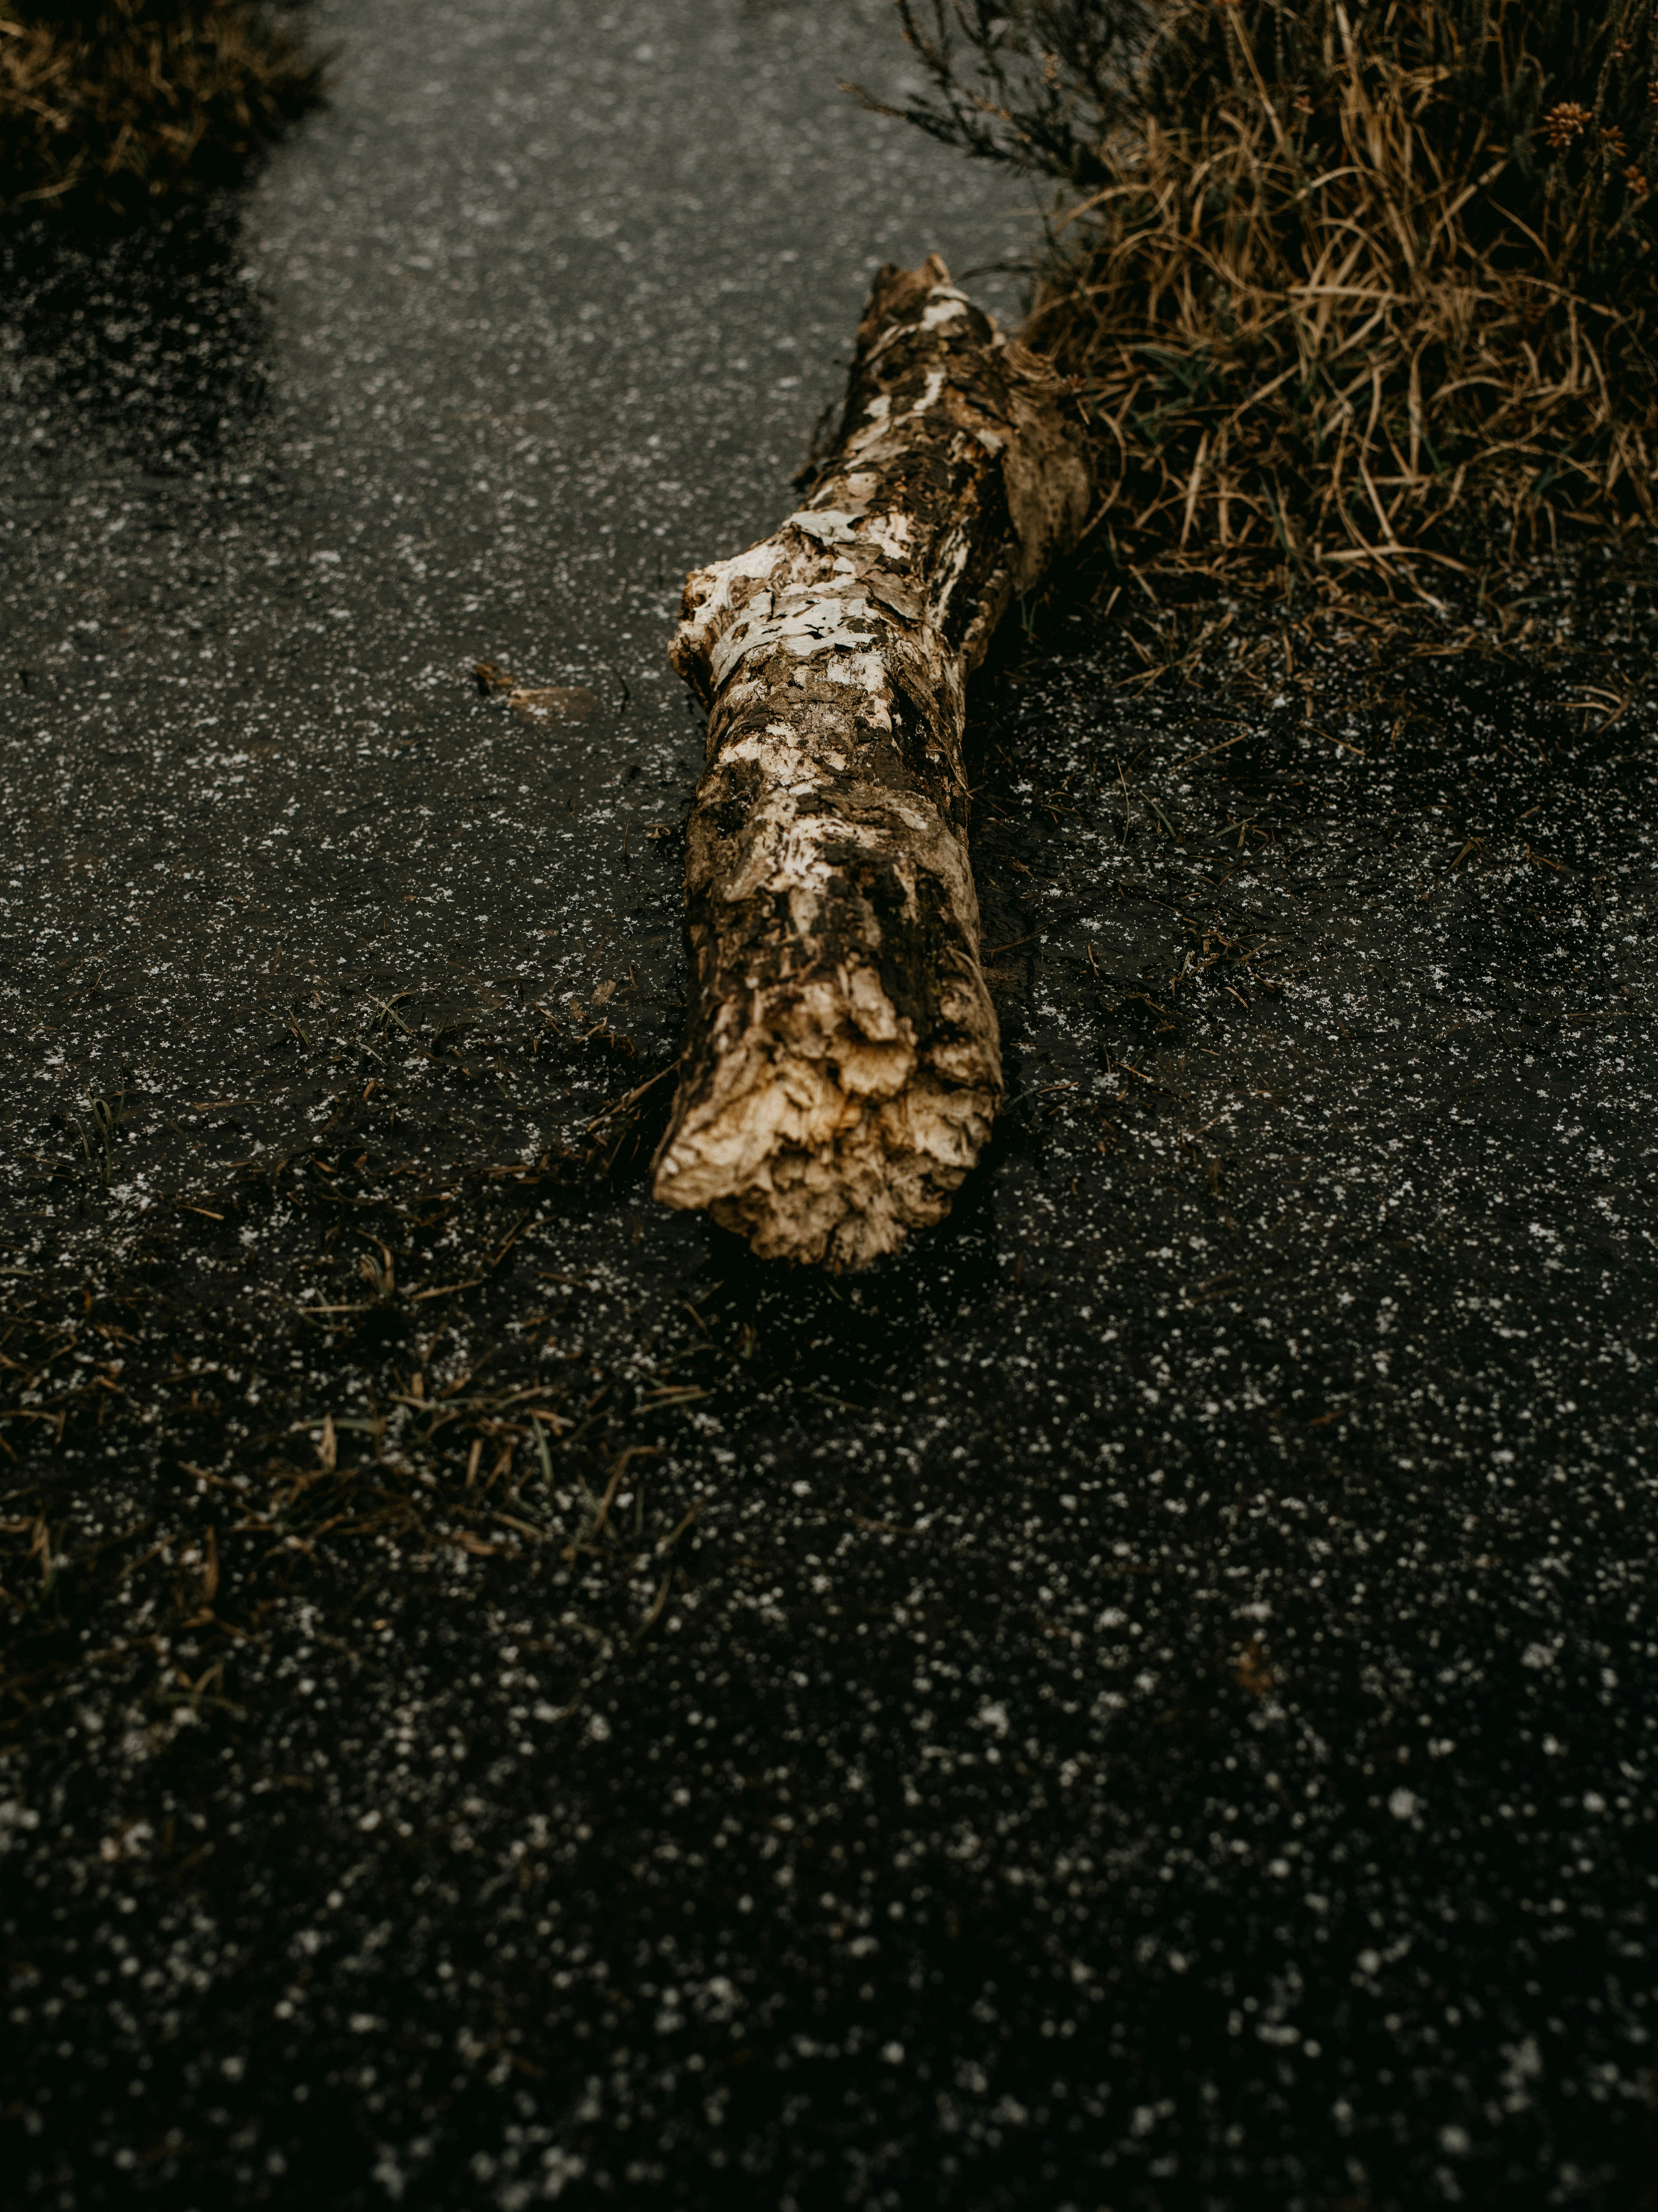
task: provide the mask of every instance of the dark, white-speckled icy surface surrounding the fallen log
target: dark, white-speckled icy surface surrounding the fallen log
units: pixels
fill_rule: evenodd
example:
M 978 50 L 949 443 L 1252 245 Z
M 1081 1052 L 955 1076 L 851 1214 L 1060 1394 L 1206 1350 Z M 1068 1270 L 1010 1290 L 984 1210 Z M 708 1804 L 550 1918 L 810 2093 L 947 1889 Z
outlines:
M 1017 195 L 873 7 L 318 13 L 7 272 L 9 2201 L 1654 2203 L 1649 555 L 1070 580 L 993 1155 L 765 1270 L 672 580 Z

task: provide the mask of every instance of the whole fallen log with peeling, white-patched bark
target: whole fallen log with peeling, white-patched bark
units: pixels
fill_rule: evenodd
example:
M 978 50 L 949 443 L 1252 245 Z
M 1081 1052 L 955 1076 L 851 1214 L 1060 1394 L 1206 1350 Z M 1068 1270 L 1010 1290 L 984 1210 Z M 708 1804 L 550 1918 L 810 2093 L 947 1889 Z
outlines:
M 875 279 L 807 504 L 685 582 L 670 655 L 710 708 L 707 772 L 654 1190 L 763 1259 L 898 1250 L 990 1135 L 966 675 L 1090 491 L 1063 387 L 933 254 Z

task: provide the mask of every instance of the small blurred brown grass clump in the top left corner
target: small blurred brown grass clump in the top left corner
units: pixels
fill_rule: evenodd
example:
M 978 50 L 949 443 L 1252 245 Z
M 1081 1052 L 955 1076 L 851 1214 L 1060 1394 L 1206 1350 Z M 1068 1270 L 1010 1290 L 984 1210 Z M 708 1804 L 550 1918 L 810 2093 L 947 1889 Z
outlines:
M 135 215 L 241 175 L 321 93 L 241 0 L 0 0 L 0 210 Z

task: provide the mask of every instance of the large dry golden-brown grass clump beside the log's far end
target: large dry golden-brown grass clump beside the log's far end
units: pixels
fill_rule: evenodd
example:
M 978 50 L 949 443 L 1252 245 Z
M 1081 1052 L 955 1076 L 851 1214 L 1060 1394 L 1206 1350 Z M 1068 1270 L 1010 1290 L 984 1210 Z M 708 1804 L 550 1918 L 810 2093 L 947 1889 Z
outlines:
M 898 0 L 906 113 L 1081 188 L 1024 336 L 1123 562 L 1421 588 L 1654 515 L 1654 0 Z

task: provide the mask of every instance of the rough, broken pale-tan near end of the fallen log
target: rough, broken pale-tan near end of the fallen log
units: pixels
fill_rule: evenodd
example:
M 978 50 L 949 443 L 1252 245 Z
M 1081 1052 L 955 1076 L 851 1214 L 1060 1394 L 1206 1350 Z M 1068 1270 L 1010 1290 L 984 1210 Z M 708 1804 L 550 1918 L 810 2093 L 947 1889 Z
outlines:
M 707 1208 L 760 1259 L 898 1252 L 951 1210 L 1001 1104 L 984 984 L 959 998 L 955 1037 L 922 1055 L 869 967 L 765 993 L 670 1130 L 657 1197 Z

